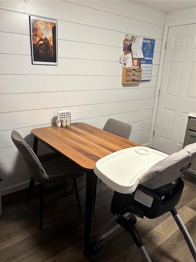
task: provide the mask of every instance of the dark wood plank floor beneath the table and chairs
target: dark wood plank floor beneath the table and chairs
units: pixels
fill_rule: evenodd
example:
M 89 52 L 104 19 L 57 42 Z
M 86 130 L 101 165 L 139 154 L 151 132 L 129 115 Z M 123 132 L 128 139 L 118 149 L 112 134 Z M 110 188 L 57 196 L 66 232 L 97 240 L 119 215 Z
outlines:
M 68 180 L 45 187 L 43 229 L 39 230 L 39 185 L 25 203 L 26 190 L 2 197 L 0 217 L 0 261 L 140 262 L 141 255 L 130 235 L 118 229 L 102 241 L 96 256 L 83 255 L 85 177 L 77 179 L 82 213 Z M 113 191 L 98 179 L 96 210 L 92 218 L 92 237 L 109 218 Z M 177 210 L 195 243 L 195 185 L 185 181 Z M 136 228 L 153 261 L 193 261 L 187 244 L 170 213 L 150 220 L 138 218 Z

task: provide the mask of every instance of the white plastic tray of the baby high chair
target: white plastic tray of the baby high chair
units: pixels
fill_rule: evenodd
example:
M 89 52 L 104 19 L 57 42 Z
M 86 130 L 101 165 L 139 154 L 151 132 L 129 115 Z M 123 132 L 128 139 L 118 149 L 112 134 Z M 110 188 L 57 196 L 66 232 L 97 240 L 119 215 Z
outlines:
M 150 167 L 168 154 L 148 147 L 130 147 L 99 159 L 94 173 L 113 190 L 129 194 Z

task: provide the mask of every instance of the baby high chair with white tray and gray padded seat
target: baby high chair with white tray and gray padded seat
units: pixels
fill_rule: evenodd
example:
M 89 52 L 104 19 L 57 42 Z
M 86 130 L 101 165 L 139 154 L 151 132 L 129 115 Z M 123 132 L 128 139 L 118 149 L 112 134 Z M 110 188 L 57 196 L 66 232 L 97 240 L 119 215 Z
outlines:
M 103 227 L 96 241 L 90 242 L 90 254 L 95 255 L 101 241 L 122 226 L 131 234 L 143 260 L 152 262 L 134 227 L 137 222 L 134 214 L 153 219 L 170 211 L 195 260 L 194 243 L 175 209 L 184 186 L 180 175 L 190 167 L 195 156 L 196 143 L 171 155 L 148 147 L 131 147 L 98 160 L 94 167 L 95 174 L 115 190 L 111 202 L 114 217 Z M 127 213 L 129 215 L 125 217 Z M 107 231 L 114 221 L 119 225 Z

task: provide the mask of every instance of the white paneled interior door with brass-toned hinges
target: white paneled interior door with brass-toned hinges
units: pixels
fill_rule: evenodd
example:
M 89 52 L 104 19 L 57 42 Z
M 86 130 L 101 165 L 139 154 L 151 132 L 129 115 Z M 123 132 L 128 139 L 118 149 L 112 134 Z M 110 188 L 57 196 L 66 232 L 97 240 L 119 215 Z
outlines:
M 187 113 L 195 111 L 195 24 L 169 27 L 153 148 L 172 154 L 182 149 Z

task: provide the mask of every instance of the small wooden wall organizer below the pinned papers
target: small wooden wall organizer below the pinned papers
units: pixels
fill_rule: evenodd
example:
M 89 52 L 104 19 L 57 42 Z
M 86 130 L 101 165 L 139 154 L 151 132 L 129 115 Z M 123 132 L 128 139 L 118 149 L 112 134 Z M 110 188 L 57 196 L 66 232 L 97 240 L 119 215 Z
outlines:
M 123 68 L 122 84 L 139 84 L 141 82 L 141 68 Z

